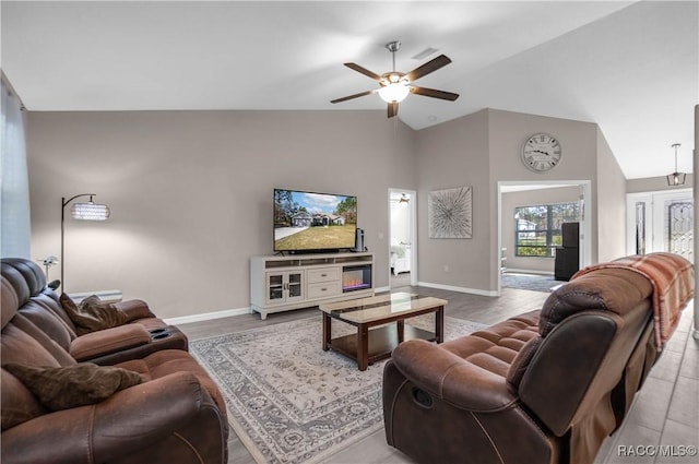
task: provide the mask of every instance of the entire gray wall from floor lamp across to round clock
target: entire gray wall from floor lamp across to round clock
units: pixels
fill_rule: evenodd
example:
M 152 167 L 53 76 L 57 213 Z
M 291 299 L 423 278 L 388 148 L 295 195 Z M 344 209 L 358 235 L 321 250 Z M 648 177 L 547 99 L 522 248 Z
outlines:
M 564 162 L 547 174 L 520 162 L 536 132 L 564 146 Z M 417 191 L 420 283 L 495 295 L 498 182 L 591 181 L 596 230 L 597 132 L 594 123 L 494 109 L 417 132 L 384 111 L 33 112 L 32 254 L 58 254 L 60 198 L 94 192 L 112 216 L 68 221 L 69 290 L 118 287 L 169 318 L 246 308 L 249 258 L 272 253 L 272 189 L 285 187 L 358 197 L 376 285 L 384 287 L 387 192 L 400 187 Z M 619 179 L 612 171 L 605 182 Z M 465 186 L 473 238 L 429 239 L 429 191 Z M 594 262 L 596 234 L 590 241 Z

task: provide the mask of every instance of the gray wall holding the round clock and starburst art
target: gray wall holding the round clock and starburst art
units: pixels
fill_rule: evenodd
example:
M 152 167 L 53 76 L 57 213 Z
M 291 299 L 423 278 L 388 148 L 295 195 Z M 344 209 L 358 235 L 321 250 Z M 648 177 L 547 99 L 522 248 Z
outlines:
M 564 159 L 553 170 L 533 172 L 520 160 L 522 143 L 537 132 L 556 136 L 564 147 Z M 602 138 L 602 141 L 600 140 Z M 495 295 L 498 289 L 500 247 L 498 245 L 498 182 L 591 182 L 592 192 L 585 207 L 590 214 L 588 238 L 591 262 L 599 254 L 596 179 L 599 163 L 611 165 L 597 126 L 545 116 L 484 109 L 418 132 L 418 236 L 419 282 L 424 285 Z M 599 160 L 599 156 L 602 160 Z M 618 195 L 615 205 L 624 204 L 618 186 L 624 176 L 618 169 L 604 169 L 605 182 Z M 430 190 L 473 187 L 473 238 L 430 239 L 427 236 L 427 195 Z M 624 253 L 624 227 L 617 224 L 618 209 L 605 214 L 605 236 L 614 236 L 608 249 Z M 609 224 L 609 216 L 614 223 Z M 621 215 L 623 217 L 623 215 Z M 620 227 L 620 229 L 619 229 Z M 618 239 L 620 238 L 620 241 Z M 607 249 L 605 249 L 607 252 Z

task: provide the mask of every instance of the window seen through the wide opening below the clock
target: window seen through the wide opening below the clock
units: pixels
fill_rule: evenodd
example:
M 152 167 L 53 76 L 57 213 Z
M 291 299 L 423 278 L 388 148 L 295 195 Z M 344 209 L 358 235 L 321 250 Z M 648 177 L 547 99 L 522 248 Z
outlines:
M 560 225 L 580 221 L 579 203 L 514 209 L 514 255 L 553 258 L 562 242 Z

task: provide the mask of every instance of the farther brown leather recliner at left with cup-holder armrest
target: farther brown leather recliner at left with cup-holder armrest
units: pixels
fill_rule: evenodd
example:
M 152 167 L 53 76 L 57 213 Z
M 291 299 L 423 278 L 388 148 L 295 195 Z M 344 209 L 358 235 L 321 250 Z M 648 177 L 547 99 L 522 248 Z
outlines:
M 63 310 L 58 295 L 46 286 L 44 272 L 35 262 L 3 258 L 0 266 L 3 278 L 22 300 L 26 299 L 20 312 L 78 361 L 114 365 L 161 349 L 188 350 L 187 336 L 156 318 L 142 300 L 114 304 L 126 314 L 127 324 L 79 336 L 75 324 Z

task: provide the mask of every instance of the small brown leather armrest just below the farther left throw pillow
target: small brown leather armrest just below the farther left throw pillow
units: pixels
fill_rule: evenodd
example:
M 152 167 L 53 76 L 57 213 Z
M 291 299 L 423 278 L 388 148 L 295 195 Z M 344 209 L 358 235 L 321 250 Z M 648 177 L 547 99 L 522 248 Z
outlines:
M 70 355 L 78 361 L 151 343 L 151 334 L 141 324 L 127 324 L 91 332 L 73 340 Z

